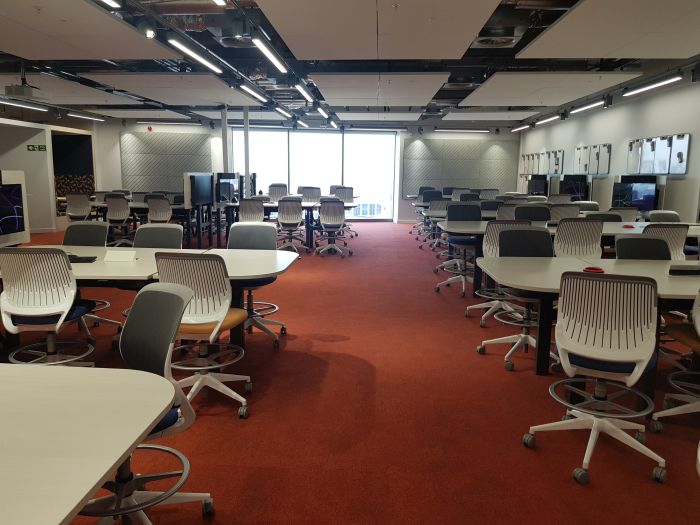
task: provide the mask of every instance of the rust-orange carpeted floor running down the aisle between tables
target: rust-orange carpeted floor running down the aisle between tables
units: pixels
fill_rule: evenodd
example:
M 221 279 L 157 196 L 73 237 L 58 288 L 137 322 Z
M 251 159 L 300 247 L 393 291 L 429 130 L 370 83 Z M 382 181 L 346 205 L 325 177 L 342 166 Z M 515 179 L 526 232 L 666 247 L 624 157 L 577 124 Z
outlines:
M 206 392 L 194 426 L 165 440 L 189 457 L 185 488 L 210 491 L 216 516 L 164 506 L 149 511 L 154 523 L 698 522 L 700 417 L 670 418 L 648 436 L 667 459 L 665 485 L 652 481 L 652 461 L 606 437 L 591 483 L 577 485 L 571 471 L 586 433 L 543 433 L 536 450 L 520 444 L 530 425 L 563 414 L 547 392 L 553 377 L 532 373 L 532 354 L 506 372 L 503 351 L 475 352 L 481 339 L 513 328 L 480 329 L 464 317 L 471 298 L 434 293 L 436 259 L 417 249 L 408 226 L 357 229 L 353 257 L 304 254 L 256 294 L 281 306 L 289 333 L 279 351 L 260 333 L 247 338 L 234 370 L 254 382 L 250 419 Z M 133 295 L 85 293 L 109 298 L 113 318 Z M 120 366 L 113 330 L 95 333 L 96 362 Z

